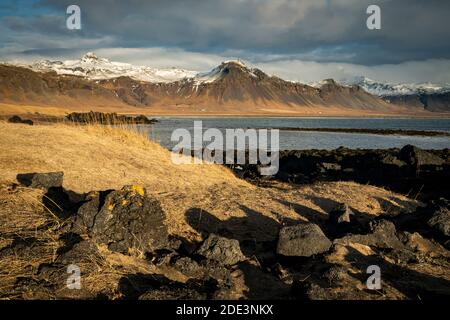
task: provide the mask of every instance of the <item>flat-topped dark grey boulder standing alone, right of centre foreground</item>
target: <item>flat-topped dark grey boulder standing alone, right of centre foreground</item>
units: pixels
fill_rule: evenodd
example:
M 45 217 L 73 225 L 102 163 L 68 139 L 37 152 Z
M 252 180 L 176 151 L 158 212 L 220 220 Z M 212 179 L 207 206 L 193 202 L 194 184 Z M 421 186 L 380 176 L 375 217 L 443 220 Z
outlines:
M 290 257 L 310 257 L 328 251 L 331 241 L 313 223 L 284 227 L 280 231 L 277 253 Z

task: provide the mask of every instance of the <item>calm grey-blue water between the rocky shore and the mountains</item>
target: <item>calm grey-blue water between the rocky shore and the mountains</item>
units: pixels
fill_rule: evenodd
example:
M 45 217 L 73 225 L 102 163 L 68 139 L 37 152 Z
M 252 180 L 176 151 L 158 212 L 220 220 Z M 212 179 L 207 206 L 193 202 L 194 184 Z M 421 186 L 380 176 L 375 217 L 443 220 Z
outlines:
M 173 130 L 193 132 L 194 121 L 202 120 L 203 129 L 218 128 L 222 132 L 233 128 L 365 128 L 432 130 L 450 132 L 450 119 L 392 119 L 392 118 L 158 118 L 159 123 L 149 129 L 151 139 L 167 148 Z M 225 135 L 225 134 L 224 134 Z M 281 150 L 336 149 L 340 146 L 357 149 L 386 149 L 413 144 L 425 149 L 450 148 L 450 137 L 419 137 L 334 132 L 280 131 Z

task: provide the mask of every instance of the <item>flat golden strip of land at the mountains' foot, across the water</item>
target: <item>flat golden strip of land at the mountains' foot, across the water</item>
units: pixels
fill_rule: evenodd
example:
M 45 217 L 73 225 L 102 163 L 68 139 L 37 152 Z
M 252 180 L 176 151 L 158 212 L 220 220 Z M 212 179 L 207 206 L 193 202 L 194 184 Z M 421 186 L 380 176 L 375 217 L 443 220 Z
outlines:
M 406 108 L 403 106 L 388 106 L 385 110 L 363 110 L 342 108 L 339 106 L 288 106 L 285 104 L 264 104 L 254 105 L 253 103 L 215 104 L 208 103 L 208 106 L 198 104 L 173 104 L 168 100 L 157 105 L 136 107 L 125 103 L 111 104 L 108 100 L 91 100 L 88 103 L 80 103 L 80 100 L 59 97 L 53 103 L 41 104 L 19 104 L 14 102 L 0 102 L 0 116 L 27 115 L 33 116 L 35 113 L 48 116 L 62 117 L 70 112 L 117 112 L 126 114 L 146 114 L 150 116 L 197 116 L 197 117 L 448 117 L 448 113 L 429 112 L 416 108 Z M 63 105 L 64 107 L 60 107 Z

